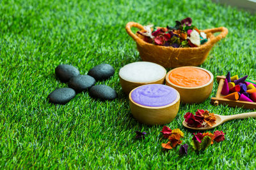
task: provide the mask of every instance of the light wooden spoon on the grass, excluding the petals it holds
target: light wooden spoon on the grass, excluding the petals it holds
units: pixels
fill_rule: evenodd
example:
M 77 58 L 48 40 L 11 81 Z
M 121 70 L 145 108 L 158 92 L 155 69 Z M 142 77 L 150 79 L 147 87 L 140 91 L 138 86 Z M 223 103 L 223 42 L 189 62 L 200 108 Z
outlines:
M 234 119 L 243 119 L 243 118 L 256 118 L 256 112 L 249 112 L 249 113 L 241 113 L 237 115 L 229 115 L 229 116 L 223 116 L 223 115 L 216 115 L 216 124 L 212 125 L 212 127 L 189 127 L 188 124 L 185 122 L 185 120 L 182 122 L 184 127 L 187 127 L 189 129 L 193 129 L 196 131 L 205 131 L 209 129 L 213 129 L 214 127 L 217 127 L 218 125 L 223 124 L 224 122 L 227 122 L 228 120 L 234 120 Z

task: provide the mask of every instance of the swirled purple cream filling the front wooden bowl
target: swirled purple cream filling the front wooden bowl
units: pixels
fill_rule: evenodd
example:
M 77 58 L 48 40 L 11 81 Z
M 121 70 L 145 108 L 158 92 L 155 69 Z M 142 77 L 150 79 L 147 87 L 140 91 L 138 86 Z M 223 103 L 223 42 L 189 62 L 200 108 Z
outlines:
M 160 84 L 143 85 L 135 89 L 131 94 L 135 103 L 143 106 L 166 106 L 177 98 L 177 92 L 172 87 Z

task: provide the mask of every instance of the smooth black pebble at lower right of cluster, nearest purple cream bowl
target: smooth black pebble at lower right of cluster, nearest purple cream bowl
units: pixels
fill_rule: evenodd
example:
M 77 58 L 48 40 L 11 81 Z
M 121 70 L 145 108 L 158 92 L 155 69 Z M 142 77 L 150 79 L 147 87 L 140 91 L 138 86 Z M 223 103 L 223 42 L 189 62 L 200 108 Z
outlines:
M 89 89 L 89 95 L 96 99 L 113 100 L 117 97 L 116 91 L 108 85 L 95 85 Z

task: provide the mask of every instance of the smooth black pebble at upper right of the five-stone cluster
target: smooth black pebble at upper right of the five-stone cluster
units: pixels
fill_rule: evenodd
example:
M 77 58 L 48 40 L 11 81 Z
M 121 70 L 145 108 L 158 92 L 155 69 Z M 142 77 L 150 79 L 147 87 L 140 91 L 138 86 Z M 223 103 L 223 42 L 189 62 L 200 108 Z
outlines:
M 115 69 L 109 64 L 100 64 L 88 71 L 88 75 L 95 78 L 96 81 L 106 80 L 109 77 L 113 76 L 114 73 L 115 73 Z

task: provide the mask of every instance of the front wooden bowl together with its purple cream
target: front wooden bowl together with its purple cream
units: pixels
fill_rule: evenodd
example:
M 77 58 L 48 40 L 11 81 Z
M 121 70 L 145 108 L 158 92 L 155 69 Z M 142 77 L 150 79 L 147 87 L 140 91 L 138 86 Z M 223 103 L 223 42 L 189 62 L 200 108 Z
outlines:
M 180 95 L 172 87 L 161 84 L 141 85 L 129 93 L 131 113 L 147 125 L 172 122 L 179 111 Z

